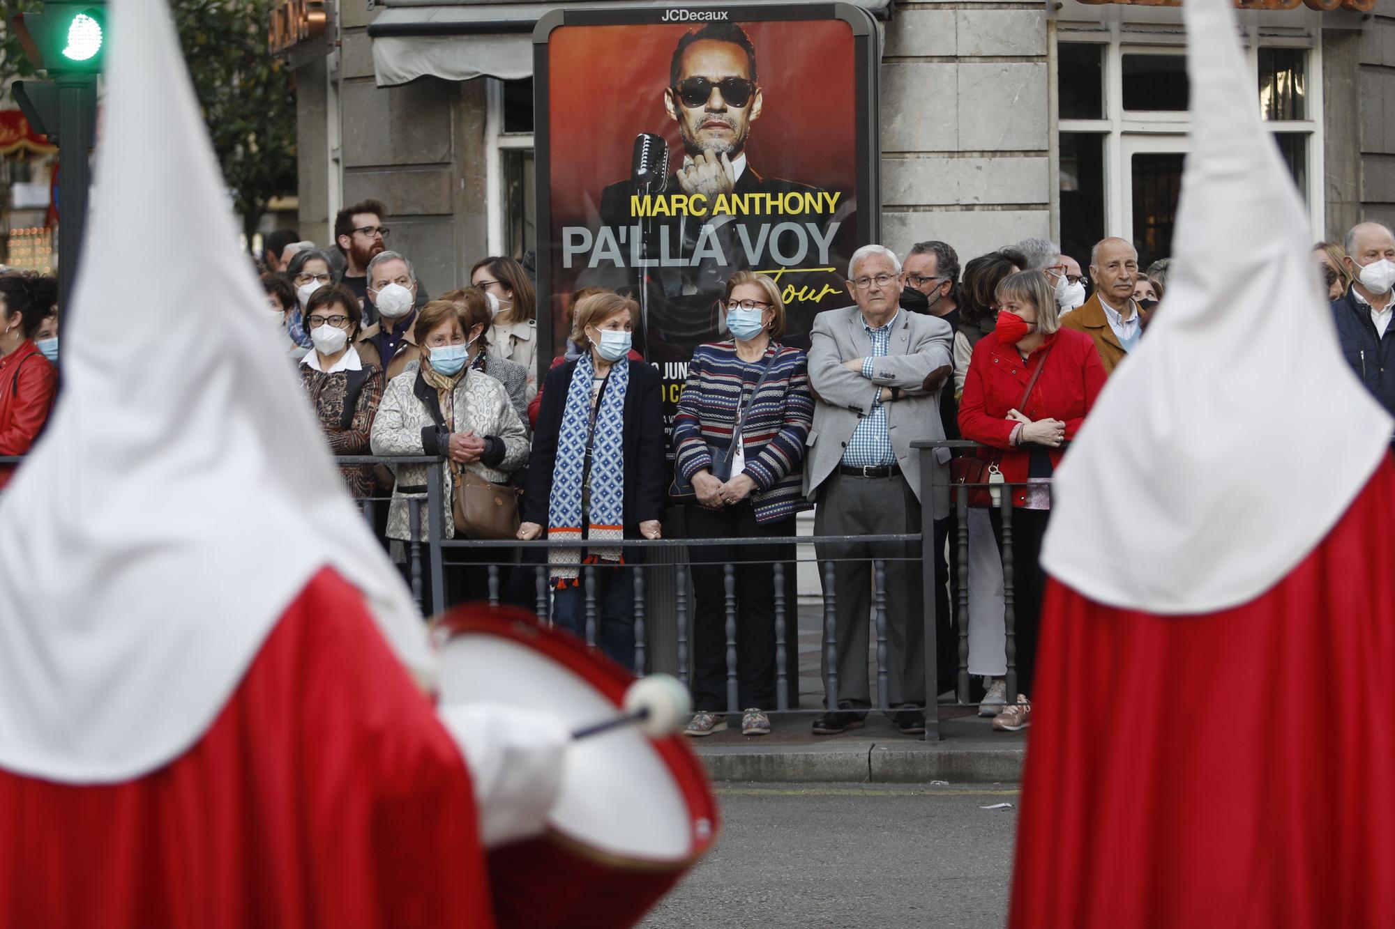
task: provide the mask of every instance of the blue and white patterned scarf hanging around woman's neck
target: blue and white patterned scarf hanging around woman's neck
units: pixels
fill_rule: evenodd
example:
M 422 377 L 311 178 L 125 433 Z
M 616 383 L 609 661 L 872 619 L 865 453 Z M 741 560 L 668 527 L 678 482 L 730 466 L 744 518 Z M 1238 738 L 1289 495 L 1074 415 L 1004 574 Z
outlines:
M 552 469 L 552 492 L 547 504 L 547 537 L 555 541 L 579 538 L 590 545 L 580 561 L 586 564 L 621 561 L 619 541 L 625 537 L 625 389 L 629 386 L 629 360 L 611 365 L 600 409 L 596 410 L 596 434 L 591 437 L 591 488 L 587 512 L 582 513 L 582 484 L 586 480 L 586 439 L 591 434 L 591 398 L 596 368 L 591 353 L 576 360 L 572 382 L 566 388 L 566 409 L 557 437 L 557 464 Z M 583 526 L 583 519 L 586 524 Z M 583 536 L 585 529 L 585 536 Z M 551 576 L 565 584 L 578 576 L 578 548 L 550 548 Z

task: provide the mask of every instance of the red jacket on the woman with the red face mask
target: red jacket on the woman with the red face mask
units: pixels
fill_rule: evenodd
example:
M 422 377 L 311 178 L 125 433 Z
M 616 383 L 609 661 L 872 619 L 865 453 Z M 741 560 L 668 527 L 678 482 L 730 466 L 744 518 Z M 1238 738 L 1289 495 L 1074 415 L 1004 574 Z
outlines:
M 1094 340 L 1084 332 L 1057 329 L 1023 361 L 1023 356 L 1010 345 L 999 345 L 997 333 L 990 332 L 974 346 L 974 357 L 964 378 L 964 396 L 960 399 L 960 434 L 967 439 L 982 442 L 992 448 L 1006 449 L 999 469 L 1009 484 L 1027 481 L 1030 449 L 1013 448 L 1010 444 L 1016 420 L 1007 418 L 1007 411 L 1017 409 L 1032 379 L 1032 372 L 1042 353 L 1050 347 L 1046 365 L 1042 368 L 1036 386 L 1027 400 L 1027 409 L 1020 410 L 1030 420 L 1060 420 L 1066 424 L 1066 439 L 1076 438 L 1085 414 L 1095 405 L 1099 389 L 1105 386 L 1105 365 L 1099 363 Z M 1052 467 L 1060 464 L 1062 449 L 1050 451 Z M 1027 491 L 1013 491 L 1013 504 L 1027 502 Z

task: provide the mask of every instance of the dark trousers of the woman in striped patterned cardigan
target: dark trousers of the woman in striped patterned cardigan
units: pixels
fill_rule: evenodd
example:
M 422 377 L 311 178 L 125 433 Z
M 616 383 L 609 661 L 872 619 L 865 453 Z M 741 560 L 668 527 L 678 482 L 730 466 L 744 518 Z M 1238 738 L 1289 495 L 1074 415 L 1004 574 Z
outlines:
M 689 506 L 686 536 L 699 538 L 776 538 L 794 536 L 794 519 L 757 523 L 751 501 L 725 509 Z M 727 706 L 727 571 L 732 565 L 737 610 L 737 709 L 776 709 L 776 561 L 795 571 L 794 545 L 689 545 L 693 591 L 693 704 L 724 713 Z M 785 642 L 798 615 L 785 601 Z

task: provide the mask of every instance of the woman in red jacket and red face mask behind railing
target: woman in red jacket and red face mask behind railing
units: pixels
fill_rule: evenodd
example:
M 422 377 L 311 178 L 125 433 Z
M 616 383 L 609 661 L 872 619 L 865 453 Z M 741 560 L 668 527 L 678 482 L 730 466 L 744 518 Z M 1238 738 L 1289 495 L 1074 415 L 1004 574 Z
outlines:
M 960 432 L 1002 449 L 999 470 L 1013 494 L 1013 630 L 1017 639 L 1017 702 L 993 718 L 995 730 L 1031 725 L 1036 629 L 1046 577 L 1041 544 L 1050 513 L 1050 476 L 1062 442 L 1074 438 L 1105 385 L 1094 342 L 1060 328 L 1052 286 L 1039 271 L 1009 275 L 997 285 L 997 326 L 974 346 L 960 400 Z M 1084 336 L 1084 338 L 1081 338 Z M 1003 516 L 989 511 L 1003 551 Z

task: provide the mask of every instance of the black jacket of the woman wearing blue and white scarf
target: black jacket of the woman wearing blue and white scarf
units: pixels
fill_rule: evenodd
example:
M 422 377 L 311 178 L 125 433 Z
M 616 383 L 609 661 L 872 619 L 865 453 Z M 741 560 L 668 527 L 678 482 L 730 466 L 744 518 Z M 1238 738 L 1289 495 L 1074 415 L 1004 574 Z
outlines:
M 629 365 L 629 388 L 625 391 L 625 537 L 639 538 L 639 524 L 647 519 L 658 519 L 665 501 L 668 463 L 664 459 L 664 410 L 660 403 L 658 371 L 644 361 L 626 358 L 625 364 Z M 557 438 L 573 371 L 576 361 L 547 372 L 543 406 L 533 430 L 523 522 L 538 523 L 544 529 L 548 524 L 552 471 L 557 467 Z

